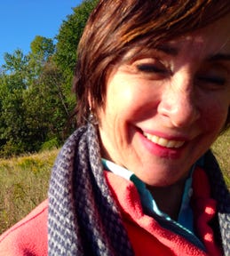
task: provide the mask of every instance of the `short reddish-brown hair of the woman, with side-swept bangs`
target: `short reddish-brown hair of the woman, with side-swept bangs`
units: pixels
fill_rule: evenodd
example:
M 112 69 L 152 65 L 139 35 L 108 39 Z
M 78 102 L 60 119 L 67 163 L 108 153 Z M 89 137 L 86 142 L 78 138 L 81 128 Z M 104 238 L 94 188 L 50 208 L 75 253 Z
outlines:
M 229 0 L 101 0 L 78 45 L 74 91 L 77 124 L 102 107 L 111 68 L 134 47 L 156 47 L 203 28 L 230 12 Z M 228 111 L 229 112 L 229 111 Z M 226 126 L 230 122 L 228 118 Z

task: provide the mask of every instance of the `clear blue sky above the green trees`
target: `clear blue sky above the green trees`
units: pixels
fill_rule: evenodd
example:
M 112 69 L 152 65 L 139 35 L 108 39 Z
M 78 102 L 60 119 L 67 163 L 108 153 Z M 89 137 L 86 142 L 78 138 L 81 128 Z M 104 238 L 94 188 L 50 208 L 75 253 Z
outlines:
M 3 0 L 0 3 L 0 66 L 4 52 L 21 49 L 25 54 L 35 36 L 53 38 L 62 20 L 82 0 Z

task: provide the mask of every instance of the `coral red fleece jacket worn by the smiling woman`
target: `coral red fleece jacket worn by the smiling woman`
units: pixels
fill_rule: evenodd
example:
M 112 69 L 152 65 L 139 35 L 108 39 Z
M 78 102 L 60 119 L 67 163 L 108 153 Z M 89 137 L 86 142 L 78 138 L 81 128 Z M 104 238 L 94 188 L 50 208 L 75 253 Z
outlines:
M 142 211 L 139 194 L 133 183 L 105 172 L 107 184 L 121 208 L 123 224 L 127 229 L 135 255 L 221 255 L 213 241 L 208 222 L 213 217 L 216 202 L 210 198 L 210 186 L 205 172 L 194 172 L 193 205 L 195 225 L 208 254 L 171 231 Z M 47 255 L 48 200 L 0 236 L 0 256 Z

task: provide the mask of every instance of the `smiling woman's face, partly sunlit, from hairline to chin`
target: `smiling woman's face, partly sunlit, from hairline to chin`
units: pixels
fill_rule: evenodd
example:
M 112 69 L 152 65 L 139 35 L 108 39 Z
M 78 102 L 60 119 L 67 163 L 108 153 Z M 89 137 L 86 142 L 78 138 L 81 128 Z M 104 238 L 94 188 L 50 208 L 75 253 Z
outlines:
M 229 31 L 226 17 L 115 67 L 99 109 L 102 156 L 148 185 L 184 179 L 226 122 Z

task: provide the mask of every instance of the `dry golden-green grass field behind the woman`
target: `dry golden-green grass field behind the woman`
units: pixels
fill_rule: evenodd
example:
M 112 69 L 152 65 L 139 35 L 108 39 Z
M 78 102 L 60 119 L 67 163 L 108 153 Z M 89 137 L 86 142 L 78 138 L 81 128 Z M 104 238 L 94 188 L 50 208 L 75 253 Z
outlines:
M 230 131 L 212 147 L 230 188 Z M 0 234 L 47 197 L 48 180 L 58 149 L 0 159 Z

